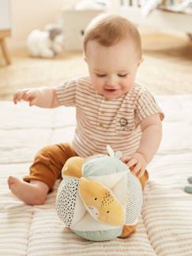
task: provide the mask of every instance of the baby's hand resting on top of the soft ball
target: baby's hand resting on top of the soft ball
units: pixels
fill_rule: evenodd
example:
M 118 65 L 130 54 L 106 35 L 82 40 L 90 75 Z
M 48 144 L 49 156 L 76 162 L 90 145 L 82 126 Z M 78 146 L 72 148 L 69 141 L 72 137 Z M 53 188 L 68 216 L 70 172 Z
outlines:
M 141 176 L 145 174 L 147 161 L 145 160 L 145 156 L 141 153 L 134 152 L 130 156 L 122 156 L 121 160 L 129 166 L 130 170 L 133 171 L 138 178 L 141 178 Z

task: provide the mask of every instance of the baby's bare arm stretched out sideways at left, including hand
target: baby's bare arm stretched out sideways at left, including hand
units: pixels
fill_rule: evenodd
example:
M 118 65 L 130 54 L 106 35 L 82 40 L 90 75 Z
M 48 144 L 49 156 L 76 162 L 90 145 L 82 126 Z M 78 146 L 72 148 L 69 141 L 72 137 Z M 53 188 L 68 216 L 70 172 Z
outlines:
M 58 107 L 59 103 L 56 95 L 56 88 L 26 88 L 18 90 L 13 95 L 13 102 L 17 104 L 18 101 L 28 101 L 29 106 L 38 107 Z

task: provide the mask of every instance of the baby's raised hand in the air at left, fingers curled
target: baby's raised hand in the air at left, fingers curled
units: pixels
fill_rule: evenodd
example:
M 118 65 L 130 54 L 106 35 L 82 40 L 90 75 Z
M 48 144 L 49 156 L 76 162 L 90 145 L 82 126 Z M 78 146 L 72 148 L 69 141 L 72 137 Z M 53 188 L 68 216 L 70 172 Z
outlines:
M 13 102 L 17 104 L 18 101 L 25 100 L 29 102 L 29 106 L 31 107 L 36 104 L 38 95 L 38 91 L 34 88 L 18 90 L 13 95 Z

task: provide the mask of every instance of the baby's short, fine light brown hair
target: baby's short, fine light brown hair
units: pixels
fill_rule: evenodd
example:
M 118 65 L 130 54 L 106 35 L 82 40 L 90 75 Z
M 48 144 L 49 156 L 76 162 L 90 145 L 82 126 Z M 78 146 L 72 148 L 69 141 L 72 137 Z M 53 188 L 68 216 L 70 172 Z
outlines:
M 94 18 L 85 30 L 84 51 L 86 52 L 88 41 L 91 40 L 109 47 L 126 39 L 134 43 L 135 50 L 141 58 L 141 36 L 136 26 L 124 17 L 101 14 Z

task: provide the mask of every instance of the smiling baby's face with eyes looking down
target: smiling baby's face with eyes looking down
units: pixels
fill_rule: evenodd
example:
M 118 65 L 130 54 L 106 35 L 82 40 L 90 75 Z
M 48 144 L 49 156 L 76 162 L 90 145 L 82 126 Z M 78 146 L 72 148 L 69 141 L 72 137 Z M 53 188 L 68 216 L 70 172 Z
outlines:
M 115 100 L 133 88 L 141 60 L 128 40 L 111 47 L 89 41 L 85 55 L 92 85 L 106 100 Z

